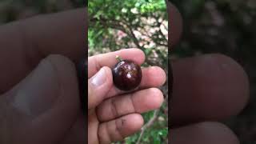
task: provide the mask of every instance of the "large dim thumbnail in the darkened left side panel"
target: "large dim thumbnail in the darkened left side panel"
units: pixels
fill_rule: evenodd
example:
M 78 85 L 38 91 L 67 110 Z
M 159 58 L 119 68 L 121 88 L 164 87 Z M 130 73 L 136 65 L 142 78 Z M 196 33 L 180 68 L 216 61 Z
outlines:
M 10 100 L 22 114 L 36 117 L 49 110 L 58 99 L 58 77 L 53 65 L 42 60 L 19 85 Z M 31 118 L 32 118 L 31 117 Z

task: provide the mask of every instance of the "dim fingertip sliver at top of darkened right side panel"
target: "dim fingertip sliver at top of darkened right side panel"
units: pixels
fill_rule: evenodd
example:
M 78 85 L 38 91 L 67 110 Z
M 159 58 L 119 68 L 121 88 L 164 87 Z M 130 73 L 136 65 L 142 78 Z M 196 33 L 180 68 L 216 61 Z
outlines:
M 170 2 L 167 2 L 168 20 L 170 23 L 170 29 L 168 31 L 169 46 L 172 48 L 178 43 L 179 38 L 182 35 L 182 16 L 178 12 L 177 8 Z

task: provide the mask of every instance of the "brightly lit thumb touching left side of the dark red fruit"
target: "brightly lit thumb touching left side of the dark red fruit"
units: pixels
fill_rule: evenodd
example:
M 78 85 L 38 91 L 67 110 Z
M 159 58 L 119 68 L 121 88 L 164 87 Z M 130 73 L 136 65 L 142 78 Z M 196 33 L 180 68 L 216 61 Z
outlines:
M 113 86 L 112 72 L 109 67 L 102 67 L 94 77 L 88 80 L 88 109 L 98 106 Z

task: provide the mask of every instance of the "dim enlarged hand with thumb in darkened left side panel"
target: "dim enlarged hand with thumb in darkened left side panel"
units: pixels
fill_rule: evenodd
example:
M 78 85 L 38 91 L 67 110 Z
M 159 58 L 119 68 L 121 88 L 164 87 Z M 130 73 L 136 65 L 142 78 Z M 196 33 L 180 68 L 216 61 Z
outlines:
M 74 69 L 86 55 L 85 11 L 0 27 L 0 143 L 87 142 Z

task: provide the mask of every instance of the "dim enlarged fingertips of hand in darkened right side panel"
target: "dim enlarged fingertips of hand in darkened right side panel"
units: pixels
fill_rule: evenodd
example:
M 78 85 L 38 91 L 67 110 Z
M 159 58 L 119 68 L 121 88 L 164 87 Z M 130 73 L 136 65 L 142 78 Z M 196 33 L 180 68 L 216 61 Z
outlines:
M 172 50 L 182 33 L 182 18 L 170 3 L 169 8 Z M 222 54 L 205 54 L 171 63 L 174 85 L 170 143 L 239 143 L 235 134 L 217 121 L 238 114 L 246 106 L 249 82 L 242 66 Z

